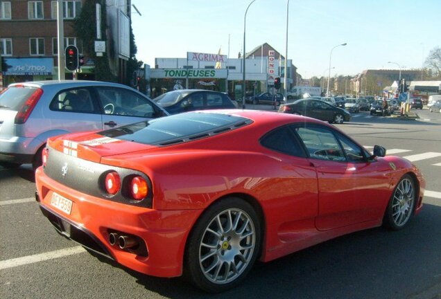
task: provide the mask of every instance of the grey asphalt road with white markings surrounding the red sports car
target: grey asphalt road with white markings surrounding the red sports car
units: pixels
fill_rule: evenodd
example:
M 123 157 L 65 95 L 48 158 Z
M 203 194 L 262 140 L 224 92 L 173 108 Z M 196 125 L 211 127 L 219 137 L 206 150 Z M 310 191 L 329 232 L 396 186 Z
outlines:
M 441 298 L 441 114 L 418 115 L 406 121 L 361 113 L 338 125 L 368 148 L 383 145 L 410 158 L 426 176 L 429 196 L 406 229 L 365 230 L 258 262 L 241 287 L 210 296 L 178 278 L 115 266 L 60 237 L 33 200 L 31 166 L 0 167 L 0 297 Z

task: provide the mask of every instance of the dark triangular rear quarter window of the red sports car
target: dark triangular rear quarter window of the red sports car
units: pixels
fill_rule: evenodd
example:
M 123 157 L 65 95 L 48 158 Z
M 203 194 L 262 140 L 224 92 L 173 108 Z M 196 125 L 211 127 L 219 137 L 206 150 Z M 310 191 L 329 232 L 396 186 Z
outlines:
M 305 156 L 302 145 L 297 141 L 288 126 L 280 127 L 263 136 L 261 145 L 284 154 Z

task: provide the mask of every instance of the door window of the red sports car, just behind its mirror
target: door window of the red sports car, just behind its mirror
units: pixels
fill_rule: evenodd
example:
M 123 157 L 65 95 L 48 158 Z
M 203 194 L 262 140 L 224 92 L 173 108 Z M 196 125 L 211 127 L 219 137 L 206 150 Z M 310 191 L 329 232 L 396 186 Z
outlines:
M 331 161 L 346 161 L 345 154 L 334 134 L 325 127 L 297 127 L 311 158 Z

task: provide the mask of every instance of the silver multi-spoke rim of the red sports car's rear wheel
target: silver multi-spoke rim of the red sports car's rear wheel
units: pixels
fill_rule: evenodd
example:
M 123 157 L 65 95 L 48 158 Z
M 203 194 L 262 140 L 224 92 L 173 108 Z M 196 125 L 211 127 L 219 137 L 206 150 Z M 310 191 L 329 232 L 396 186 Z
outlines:
M 256 230 L 243 210 L 223 210 L 207 226 L 199 248 L 200 269 L 216 284 L 241 275 L 250 263 L 256 244 Z

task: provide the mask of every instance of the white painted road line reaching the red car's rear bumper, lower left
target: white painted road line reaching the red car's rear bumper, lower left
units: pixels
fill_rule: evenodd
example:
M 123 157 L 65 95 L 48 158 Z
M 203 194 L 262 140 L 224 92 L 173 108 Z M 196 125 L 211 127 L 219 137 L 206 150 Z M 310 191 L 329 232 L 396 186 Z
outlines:
M 43 262 L 45 260 L 53 260 L 55 258 L 65 257 L 68 255 L 74 255 L 74 254 L 84 253 L 84 252 L 86 252 L 85 248 L 83 248 L 82 246 L 76 246 L 76 247 L 71 247 L 71 248 L 60 249 L 58 251 L 49 251 L 46 253 L 40 253 L 40 254 L 36 254 L 36 255 L 17 257 L 17 258 L 10 259 L 10 260 L 0 261 L 0 270 L 13 268 L 16 266 L 23 266 L 26 264 L 33 264 L 36 262 Z

